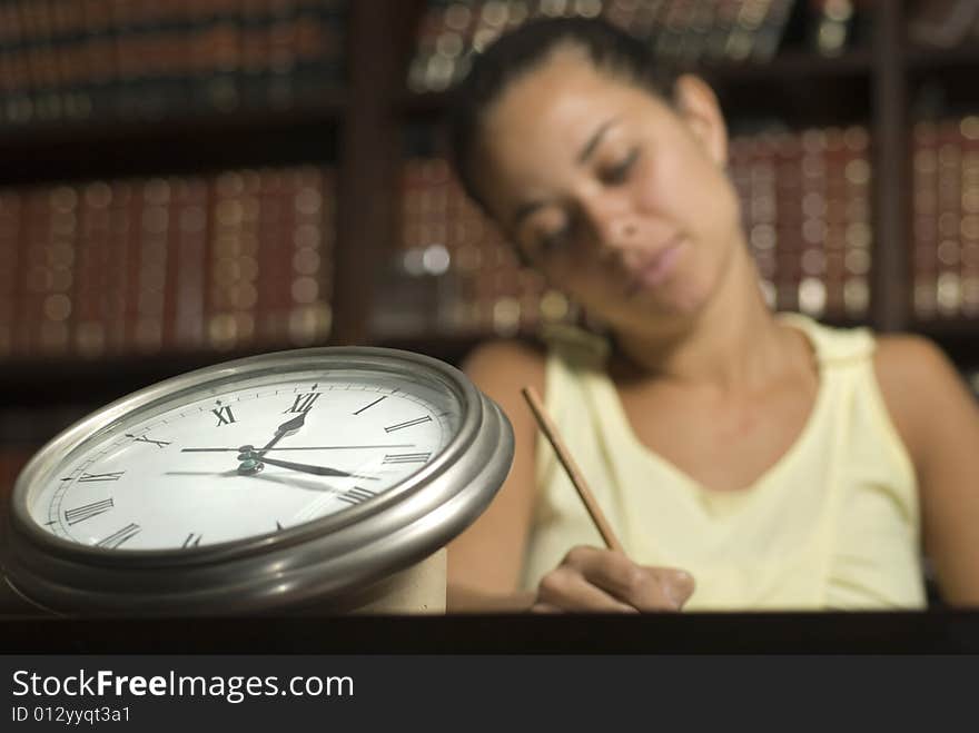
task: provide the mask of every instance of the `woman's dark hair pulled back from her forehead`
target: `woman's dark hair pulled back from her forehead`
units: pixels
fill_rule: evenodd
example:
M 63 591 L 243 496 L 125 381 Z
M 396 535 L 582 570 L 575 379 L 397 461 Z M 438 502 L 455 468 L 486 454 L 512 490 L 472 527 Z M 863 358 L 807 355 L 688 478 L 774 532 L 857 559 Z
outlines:
M 647 43 L 603 20 L 538 18 L 503 34 L 473 58 L 453 90 L 449 153 L 466 194 L 481 206 L 472 169 L 473 145 L 483 115 L 507 87 L 537 68 L 558 48 L 583 51 L 596 69 L 643 86 L 664 99 L 673 96 L 676 72 L 656 60 Z

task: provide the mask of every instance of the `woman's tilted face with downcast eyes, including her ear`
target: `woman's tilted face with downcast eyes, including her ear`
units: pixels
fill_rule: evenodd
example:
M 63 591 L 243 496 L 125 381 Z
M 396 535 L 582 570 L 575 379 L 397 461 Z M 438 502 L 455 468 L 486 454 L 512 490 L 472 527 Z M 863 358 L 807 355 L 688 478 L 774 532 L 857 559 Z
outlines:
M 684 77 L 675 109 L 560 51 L 487 110 L 479 192 L 556 286 L 613 326 L 693 316 L 740 241 L 710 89 Z

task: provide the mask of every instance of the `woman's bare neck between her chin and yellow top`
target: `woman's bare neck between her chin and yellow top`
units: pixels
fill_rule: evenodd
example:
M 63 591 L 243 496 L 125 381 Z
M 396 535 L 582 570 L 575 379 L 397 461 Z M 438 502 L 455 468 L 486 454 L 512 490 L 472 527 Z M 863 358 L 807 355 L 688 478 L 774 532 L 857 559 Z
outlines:
M 688 386 L 722 392 L 763 385 L 787 367 L 795 338 L 764 304 L 746 248 L 732 257 L 718 290 L 685 327 L 662 333 L 616 333 L 617 350 L 632 368 Z

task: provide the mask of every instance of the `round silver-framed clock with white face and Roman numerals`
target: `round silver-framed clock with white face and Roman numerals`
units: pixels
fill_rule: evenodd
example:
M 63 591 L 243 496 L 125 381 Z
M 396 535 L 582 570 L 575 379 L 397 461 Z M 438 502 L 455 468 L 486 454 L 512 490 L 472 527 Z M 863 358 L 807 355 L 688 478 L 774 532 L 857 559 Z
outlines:
M 431 575 L 426 558 L 482 513 L 512 459 L 506 417 L 439 360 L 373 347 L 237 359 L 46 445 L 13 487 L 4 573 L 69 614 L 385 607 L 385 594 L 431 587 L 416 571 Z M 436 585 L 444 607 L 444 575 Z

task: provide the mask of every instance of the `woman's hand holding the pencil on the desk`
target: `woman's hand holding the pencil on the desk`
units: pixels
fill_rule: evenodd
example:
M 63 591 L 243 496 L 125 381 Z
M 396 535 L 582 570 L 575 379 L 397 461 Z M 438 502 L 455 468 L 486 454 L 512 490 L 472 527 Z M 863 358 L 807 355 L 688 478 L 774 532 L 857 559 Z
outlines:
M 684 571 L 636 565 L 622 553 L 582 545 L 541 580 L 531 611 L 680 611 L 693 587 L 693 576 Z

